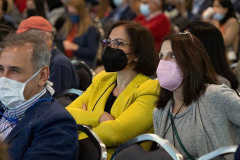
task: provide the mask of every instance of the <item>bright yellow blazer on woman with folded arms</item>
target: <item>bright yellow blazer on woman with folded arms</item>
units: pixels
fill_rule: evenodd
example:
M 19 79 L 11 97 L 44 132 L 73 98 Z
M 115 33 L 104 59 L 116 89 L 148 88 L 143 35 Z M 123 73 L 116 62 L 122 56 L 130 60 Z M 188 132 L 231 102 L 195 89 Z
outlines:
M 115 100 L 111 115 L 115 120 L 99 123 L 106 101 L 115 87 L 117 73 L 97 74 L 88 89 L 66 109 L 78 124 L 91 125 L 108 147 L 116 147 L 143 133 L 153 132 L 153 109 L 159 94 L 159 83 L 138 74 Z M 82 104 L 87 110 L 82 110 Z M 94 107 L 95 106 L 95 107 Z M 94 109 L 93 109 L 94 108 Z M 79 139 L 85 138 L 80 134 Z M 108 157 L 110 158 L 110 157 Z

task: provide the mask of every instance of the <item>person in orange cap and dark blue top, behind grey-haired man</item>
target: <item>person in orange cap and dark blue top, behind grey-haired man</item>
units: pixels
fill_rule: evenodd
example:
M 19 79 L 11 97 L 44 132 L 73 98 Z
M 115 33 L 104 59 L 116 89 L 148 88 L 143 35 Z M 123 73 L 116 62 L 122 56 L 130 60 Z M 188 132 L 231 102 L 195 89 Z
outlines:
M 32 16 L 23 20 L 17 33 L 38 35 L 51 50 L 50 77 L 55 95 L 66 89 L 79 89 L 79 78 L 70 60 L 53 43 L 52 25 L 40 16 Z M 54 96 L 55 96 L 54 95 Z

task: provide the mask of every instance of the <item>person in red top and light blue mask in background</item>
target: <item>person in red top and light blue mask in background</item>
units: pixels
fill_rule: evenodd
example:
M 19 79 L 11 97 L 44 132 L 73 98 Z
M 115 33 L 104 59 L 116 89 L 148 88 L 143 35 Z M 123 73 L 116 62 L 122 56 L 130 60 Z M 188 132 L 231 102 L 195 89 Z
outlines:
M 141 0 L 139 9 L 141 15 L 134 21 L 150 30 L 156 50 L 159 51 L 163 38 L 169 34 L 171 28 L 169 19 L 162 11 L 162 2 L 160 0 Z

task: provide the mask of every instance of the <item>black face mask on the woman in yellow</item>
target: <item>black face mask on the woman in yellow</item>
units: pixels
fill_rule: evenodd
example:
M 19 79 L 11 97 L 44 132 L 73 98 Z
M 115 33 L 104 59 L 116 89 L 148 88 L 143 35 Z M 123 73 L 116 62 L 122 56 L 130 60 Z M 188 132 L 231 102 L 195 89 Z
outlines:
M 102 62 L 106 72 L 117 72 L 127 66 L 128 59 L 123 50 L 107 46 L 102 55 Z

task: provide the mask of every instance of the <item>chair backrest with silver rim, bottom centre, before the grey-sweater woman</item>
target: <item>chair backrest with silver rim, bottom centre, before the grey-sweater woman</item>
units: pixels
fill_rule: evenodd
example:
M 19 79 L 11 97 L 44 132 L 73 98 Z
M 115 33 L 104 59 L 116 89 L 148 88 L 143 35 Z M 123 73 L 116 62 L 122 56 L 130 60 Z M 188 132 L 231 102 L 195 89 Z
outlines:
M 154 151 L 145 151 L 138 143 L 144 141 L 156 142 L 161 148 Z M 111 160 L 138 159 L 138 160 L 183 160 L 183 156 L 165 139 L 155 134 L 143 134 L 119 146 L 113 153 Z

